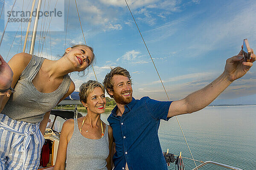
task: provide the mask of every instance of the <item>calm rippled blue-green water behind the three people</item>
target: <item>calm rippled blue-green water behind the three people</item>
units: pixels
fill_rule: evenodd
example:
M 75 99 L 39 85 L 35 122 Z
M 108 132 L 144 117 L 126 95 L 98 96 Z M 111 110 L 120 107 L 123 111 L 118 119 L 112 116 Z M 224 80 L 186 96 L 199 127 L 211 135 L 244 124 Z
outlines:
M 107 122 L 110 112 L 102 114 Z M 177 116 L 194 159 L 217 161 L 244 170 L 256 170 L 256 105 L 206 107 L 192 114 Z M 164 151 L 191 158 L 176 118 L 161 121 L 159 138 Z M 186 170 L 195 164 L 183 159 Z M 197 162 L 199 165 L 200 162 Z M 175 170 L 171 164 L 169 170 Z M 200 170 L 227 170 L 205 165 Z

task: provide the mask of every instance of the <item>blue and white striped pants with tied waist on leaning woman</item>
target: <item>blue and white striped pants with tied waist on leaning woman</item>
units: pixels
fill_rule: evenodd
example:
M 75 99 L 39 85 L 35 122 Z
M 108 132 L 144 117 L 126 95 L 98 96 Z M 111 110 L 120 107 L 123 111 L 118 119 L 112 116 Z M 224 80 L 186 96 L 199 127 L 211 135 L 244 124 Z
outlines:
M 0 113 L 0 170 L 37 170 L 43 144 L 39 123 L 19 122 Z

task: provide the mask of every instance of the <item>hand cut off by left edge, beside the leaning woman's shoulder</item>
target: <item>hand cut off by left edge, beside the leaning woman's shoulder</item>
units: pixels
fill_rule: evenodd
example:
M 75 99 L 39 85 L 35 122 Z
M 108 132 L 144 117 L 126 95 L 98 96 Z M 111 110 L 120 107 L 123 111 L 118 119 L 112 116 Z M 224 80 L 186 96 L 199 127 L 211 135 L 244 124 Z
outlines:
M 12 69 L 0 55 L 0 91 L 8 89 L 12 84 Z

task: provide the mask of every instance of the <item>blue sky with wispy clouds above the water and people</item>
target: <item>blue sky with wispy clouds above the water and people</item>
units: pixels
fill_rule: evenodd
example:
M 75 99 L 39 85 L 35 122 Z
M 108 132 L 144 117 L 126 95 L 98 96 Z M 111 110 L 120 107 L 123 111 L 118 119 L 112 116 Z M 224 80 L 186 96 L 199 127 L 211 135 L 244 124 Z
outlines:
M 125 0 L 76 0 L 84 38 L 75 0 L 50 2 L 48 11 L 56 8 L 62 16 L 52 17 L 50 24 L 50 17 L 41 17 L 35 55 L 58 59 L 65 48 L 84 44 L 85 38 L 96 55 L 93 68 L 99 82 L 110 67 L 121 66 L 131 74 L 136 99 L 149 96 L 168 100 Z M 14 0 L 0 0 L 0 9 L 3 3 L 0 35 Z M 48 3 L 49 0 L 43 0 L 41 11 L 47 11 Z M 183 99 L 220 76 L 226 59 L 239 53 L 244 38 L 251 48 L 256 47 L 255 0 L 127 0 L 127 3 L 170 100 Z M 31 0 L 24 0 L 24 3 L 17 0 L 14 11 L 21 11 L 22 7 L 23 11 L 30 11 L 31 4 Z M 0 47 L 0 54 L 6 61 L 21 52 L 27 24 L 21 27 L 20 23 L 8 23 Z M 44 46 L 40 44 L 44 40 L 40 37 L 45 37 Z M 78 90 L 82 82 L 95 76 L 90 68 L 85 77 L 72 73 L 71 78 Z M 212 104 L 256 104 L 255 64 Z

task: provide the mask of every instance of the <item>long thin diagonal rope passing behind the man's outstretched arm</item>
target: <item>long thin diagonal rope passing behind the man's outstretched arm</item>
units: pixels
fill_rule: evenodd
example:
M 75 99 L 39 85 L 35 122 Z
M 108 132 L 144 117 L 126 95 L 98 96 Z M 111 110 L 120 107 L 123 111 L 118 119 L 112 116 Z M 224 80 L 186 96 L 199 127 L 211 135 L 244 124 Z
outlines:
M 133 18 L 133 20 L 134 20 L 134 22 L 135 22 L 137 28 L 138 28 L 138 31 L 140 32 L 140 29 L 139 29 L 139 27 L 138 27 L 138 25 L 137 25 L 137 23 L 136 23 L 136 21 L 135 21 L 135 19 L 134 19 L 134 16 L 133 16 L 133 14 L 132 14 L 132 12 L 131 12 L 131 9 L 129 8 L 128 3 L 127 3 L 126 0 L 125 0 L 125 3 L 126 3 L 128 9 L 129 9 L 130 13 L 131 13 L 131 16 L 132 16 L 132 18 Z M 140 36 L 141 36 L 141 38 L 142 38 L 142 40 L 143 40 L 143 42 L 144 42 L 144 44 L 145 44 L 145 47 L 147 48 L 147 51 L 148 51 L 149 56 L 150 56 L 150 58 L 151 58 L 151 60 L 152 60 L 152 62 L 153 62 L 153 64 L 154 64 L 154 61 L 153 61 L 153 59 L 152 59 L 152 57 L 151 57 L 151 54 L 150 54 L 150 52 L 149 52 L 149 50 L 148 50 L 148 47 L 147 47 L 147 45 L 146 45 L 146 43 L 145 43 L 145 41 L 144 41 L 144 38 L 143 38 L 141 32 L 140 32 Z M 156 71 L 157 71 L 157 68 L 156 68 L 155 64 L 154 64 L 154 67 L 155 67 L 155 69 L 156 69 Z M 162 85 L 163 85 L 163 81 L 162 81 L 162 79 L 161 79 L 161 77 L 160 77 L 158 71 L 157 71 L 157 74 L 158 74 L 158 77 L 159 77 L 159 79 L 160 79 L 160 81 L 161 81 L 161 83 L 162 83 Z M 169 97 L 168 97 L 168 95 L 167 95 L 167 92 L 166 92 L 166 89 L 165 89 L 164 85 L 163 85 L 163 89 L 164 89 L 164 91 L 165 91 L 165 93 L 166 93 L 166 96 L 167 96 L 168 100 L 170 101 L 170 99 L 169 99 Z M 179 122 L 177 116 L 175 116 L 175 117 L 176 117 L 177 122 L 178 122 L 178 124 L 179 124 L 179 126 L 180 126 L 180 122 Z M 181 126 L 180 126 L 180 130 L 181 130 L 181 132 L 182 132 L 182 134 L 183 134 L 183 137 L 184 137 L 184 139 L 185 139 L 185 142 L 186 142 L 186 144 L 187 144 L 187 147 L 189 148 L 189 144 L 188 144 L 188 142 L 186 141 L 186 137 L 185 137 L 185 135 L 184 135 L 184 133 L 183 133 L 183 130 L 182 130 Z M 194 160 L 194 157 L 193 157 L 193 155 L 192 155 L 192 153 L 191 153 L 190 148 L 189 148 L 189 152 L 190 152 L 190 154 L 191 154 L 191 156 L 192 156 L 192 159 L 193 159 L 193 161 L 194 161 L 194 163 L 195 163 L 195 160 Z M 198 170 L 196 164 L 195 164 L 195 167 L 196 167 L 196 169 Z

